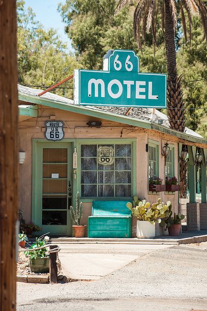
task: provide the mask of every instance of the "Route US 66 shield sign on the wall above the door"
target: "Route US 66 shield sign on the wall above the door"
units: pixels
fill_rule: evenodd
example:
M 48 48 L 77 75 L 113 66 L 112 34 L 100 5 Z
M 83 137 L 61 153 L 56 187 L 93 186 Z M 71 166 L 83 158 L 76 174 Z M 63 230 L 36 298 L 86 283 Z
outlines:
M 48 140 L 62 140 L 65 136 L 62 121 L 45 122 L 45 138 Z

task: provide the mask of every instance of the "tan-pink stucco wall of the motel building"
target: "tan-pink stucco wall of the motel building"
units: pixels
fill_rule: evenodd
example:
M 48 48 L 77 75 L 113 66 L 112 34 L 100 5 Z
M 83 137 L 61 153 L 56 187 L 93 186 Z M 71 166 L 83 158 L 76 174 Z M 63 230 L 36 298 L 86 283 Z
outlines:
M 24 164 L 20 164 L 20 195 L 19 208 L 23 209 L 23 216 L 26 221 L 31 220 L 32 211 L 32 138 L 44 139 L 44 122 L 53 120 L 64 121 L 65 138 L 137 138 L 137 193 L 141 199 L 153 203 L 160 197 L 164 202 L 171 201 L 173 210 L 177 212 L 178 196 L 175 194 L 151 194 L 148 192 L 148 153 L 146 152 L 146 144 L 148 138 L 159 141 L 159 177 L 164 180 L 164 158 L 161 158 L 161 138 L 151 131 L 142 128 L 130 130 L 128 126 L 112 121 L 91 118 L 81 114 L 69 113 L 60 109 L 51 109 L 48 107 L 40 107 L 38 118 L 33 118 L 19 122 L 19 151 L 26 153 Z M 87 121 L 101 120 L 102 128 L 88 128 Z M 123 129 L 126 128 L 126 129 Z M 64 141 L 64 140 L 63 140 Z M 162 140 L 164 144 L 166 140 Z M 168 143 L 174 144 L 174 159 L 175 159 L 175 176 L 177 177 L 177 143 L 168 140 Z M 55 143 L 54 143 L 55 145 Z M 86 200 L 85 200 L 86 201 Z M 87 217 L 91 215 L 91 200 L 84 202 L 84 213 L 82 224 L 87 224 Z M 156 230 L 157 231 L 157 230 Z M 133 219 L 133 236 L 136 236 L 136 219 Z

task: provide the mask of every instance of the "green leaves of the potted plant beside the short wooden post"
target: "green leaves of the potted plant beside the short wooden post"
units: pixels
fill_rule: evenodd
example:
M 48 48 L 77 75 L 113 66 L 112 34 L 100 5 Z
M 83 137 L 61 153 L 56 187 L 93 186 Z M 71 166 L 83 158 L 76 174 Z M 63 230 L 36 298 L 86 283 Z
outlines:
M 30 246 L 29 250 L 24 252 L 24 254 L 26 256 L 29 256 L 30 259 L 49 257 L 46 254 L 47 248 L 41 248 L 38 250 L 34 250 L 35 248 L 45 246 L 48 243 L 49 239 L 50 239 L 50 237 L 48 237 L 48 236 L 45 236 L 44 238 L 42 236 L 39 238 L 36 238 L 35 243 L 33 243 Z

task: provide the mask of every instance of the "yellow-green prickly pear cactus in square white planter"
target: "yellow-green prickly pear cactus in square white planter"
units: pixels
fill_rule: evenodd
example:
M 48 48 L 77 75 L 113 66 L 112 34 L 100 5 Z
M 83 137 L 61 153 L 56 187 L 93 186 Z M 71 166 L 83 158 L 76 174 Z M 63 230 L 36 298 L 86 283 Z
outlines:
M 135 200 L 133 200 L 135 202 Z M 155 223 L 160 223 L 161 219 L 166 217 L 169 212 L 171 202 L 164 204 L 161 199 L 152 205 L 145 200 L 140 201 L 138 206 L 128 202 L 126 206 L 132 211 L 132 214 L 138 218 L 137 220 L 137 237 L 138 238 L 154 238 Z

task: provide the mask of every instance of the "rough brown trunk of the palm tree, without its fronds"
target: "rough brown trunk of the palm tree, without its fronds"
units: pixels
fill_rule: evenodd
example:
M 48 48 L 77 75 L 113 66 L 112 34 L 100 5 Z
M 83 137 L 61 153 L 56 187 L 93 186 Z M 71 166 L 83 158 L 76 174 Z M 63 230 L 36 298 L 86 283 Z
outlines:
M 173 29 L 173 17 L 170 1 L 165 0 L 165 46 L 168 69 L 168 120 L 172 129 L 184 132 L 185 115 L 181 78 L 177 76 L 175 34 Z M 179 165 L 180 196 L 187 196 L 187 165 L 181 160 Z

